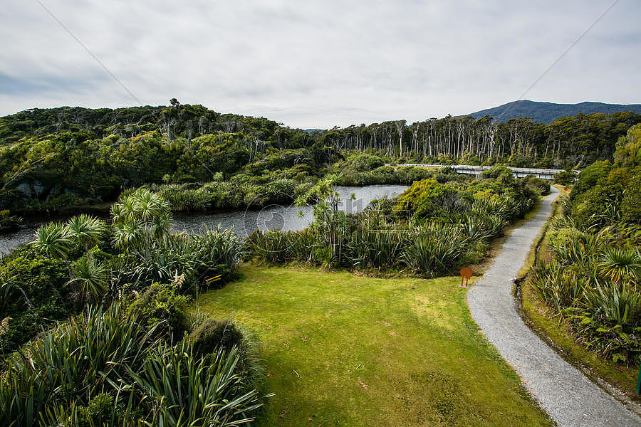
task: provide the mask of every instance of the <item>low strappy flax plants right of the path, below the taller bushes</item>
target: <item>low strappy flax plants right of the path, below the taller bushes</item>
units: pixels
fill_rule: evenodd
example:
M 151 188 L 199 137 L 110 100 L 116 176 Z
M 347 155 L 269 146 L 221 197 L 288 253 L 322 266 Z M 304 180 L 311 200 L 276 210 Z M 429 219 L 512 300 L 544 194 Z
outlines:
M 552 261 L 542 260 L 529 280 L 543 301 L 567 317 L 587 347 L 615 362 L 641 359 L 641 255 L 614 246 L 608 230 L 573 228 L 553 221 Z

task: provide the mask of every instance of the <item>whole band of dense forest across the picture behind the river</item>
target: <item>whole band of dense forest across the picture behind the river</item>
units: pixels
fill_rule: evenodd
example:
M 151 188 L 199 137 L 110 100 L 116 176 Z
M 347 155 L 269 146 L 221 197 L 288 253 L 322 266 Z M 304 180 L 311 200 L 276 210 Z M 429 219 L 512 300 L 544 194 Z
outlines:
M 32 109 L 0 118 L 1 218 L 6 224 L 12 214 L 111 202 L 147 184 L 173 186 L 165 193 L 175 194 L 184 186 L 224 182 L 242 189 L 227 207 L 246 206 L 256 194 L 269 193 L 266 185 L 273 182 L 285 190 L 281 194 L 298 196 L 305 187 L 292 189 L 312 185 L 337 162 L 359 154 L 378 156 L 382 164 L 585 167 L 612 159 L 614 142 L 638 122 L 641 115 L 633 112 L 564 117 L 549 125 L 448 116 L 306 132 L 177 100 L 169 107 Z M 386 182 L 399 175 L 382 172 Z M 368 184 L 366 179 L 353 183 Z M 175 205 L 225 207 L 207 200 Z

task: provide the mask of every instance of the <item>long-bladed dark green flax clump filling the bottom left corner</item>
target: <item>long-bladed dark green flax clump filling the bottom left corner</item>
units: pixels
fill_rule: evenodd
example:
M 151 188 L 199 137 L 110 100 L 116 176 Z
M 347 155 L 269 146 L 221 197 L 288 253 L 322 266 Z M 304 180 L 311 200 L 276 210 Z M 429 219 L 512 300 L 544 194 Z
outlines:
M 87 406 L 105 391 L 125 403 L 127 384 L 118 383 L 127 367 L 142 364 L 147 339 L 146 329 L 135 318 L 121 316 L 118 305 L 105 312 L 91 309 L 43 333 L 7 361 L 0 376 L 0 423 L 17 427 L 63 422 L 69 414 L 58 417 L 58 406 Z M 112 425 L 135 419 L 131 404 L 123 409 L 114 407 Z

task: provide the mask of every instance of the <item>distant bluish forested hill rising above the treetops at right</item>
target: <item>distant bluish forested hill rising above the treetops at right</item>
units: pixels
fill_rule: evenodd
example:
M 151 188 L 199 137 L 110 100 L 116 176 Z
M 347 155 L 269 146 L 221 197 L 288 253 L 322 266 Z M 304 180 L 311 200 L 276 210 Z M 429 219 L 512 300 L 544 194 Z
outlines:
M 614 112 L 632 111 L 641 114 L 641 104 L 604 104 L 603 102 L 580 102 L 578 104 L 554 104 L 553 102 L 534 102 L 528 100 L 508 102 L 499 107 L 488 108 L 469 115 L 475 119 L 490 116 L 498 122 L 507 122 L 510 119 L 531 117 L 535 122 L 551 123 L 561 117 L 574 116 L 578 114 L 592 114 L 602 112 L 612 114 Z

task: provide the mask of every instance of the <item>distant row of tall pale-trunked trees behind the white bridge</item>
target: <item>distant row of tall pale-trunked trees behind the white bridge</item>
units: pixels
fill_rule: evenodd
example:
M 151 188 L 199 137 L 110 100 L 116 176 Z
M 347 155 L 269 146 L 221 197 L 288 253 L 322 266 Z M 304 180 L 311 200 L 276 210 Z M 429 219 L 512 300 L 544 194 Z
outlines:
M 392 159 L 511 166 L 585 167 L 612 159 L 615 142 L 641 115 L 617 112 L 563 117 L 545 125 L 527 118 L 496 123 L 491 117 L 432 118 L 334 128 L 323 132 L 325 145 L 339 152 L 380 154 Z

